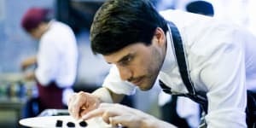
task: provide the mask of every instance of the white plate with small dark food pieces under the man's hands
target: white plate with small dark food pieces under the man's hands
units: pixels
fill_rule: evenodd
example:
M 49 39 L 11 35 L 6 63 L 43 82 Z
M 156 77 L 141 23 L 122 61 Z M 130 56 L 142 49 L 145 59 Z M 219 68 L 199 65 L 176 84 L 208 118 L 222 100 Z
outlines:
M 79 125 L 79 120 L 73 119 L 71 116 L 44 116 L 34 117 L 27 119 L 20 119 L 20 125 L 34 127 L 34 128 L 56 128 L 57 120 L 62 121 L 62 128 L 68 128 L 67 122 L 73 122 L 76 128 L 82 128 Z M 111 128 L 110 125 L 105 123 L 102 118 L 94 118 L 86 121 L 86 128 Z

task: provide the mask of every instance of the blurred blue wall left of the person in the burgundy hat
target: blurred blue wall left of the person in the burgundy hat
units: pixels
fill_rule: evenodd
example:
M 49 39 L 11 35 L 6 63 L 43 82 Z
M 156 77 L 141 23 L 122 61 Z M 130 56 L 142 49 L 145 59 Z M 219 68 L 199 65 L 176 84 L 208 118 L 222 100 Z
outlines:
M 0 0 L 0 73 L 20 71 L 20 61 L 34 55 L 38 43 L 20 27 L 21 16 L 31 7 L 54 8 L 54 0 Z

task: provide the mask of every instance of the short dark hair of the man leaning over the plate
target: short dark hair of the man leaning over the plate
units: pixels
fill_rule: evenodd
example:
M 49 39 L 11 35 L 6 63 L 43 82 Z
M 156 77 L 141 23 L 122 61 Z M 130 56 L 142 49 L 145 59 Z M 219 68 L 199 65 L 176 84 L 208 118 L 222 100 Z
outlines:
M 156 27 L 167 31 L 166 20 L 148 0 L 108 0 L 90 28 L 91 49 L 109 55 L 138 42 L 150 45 Z

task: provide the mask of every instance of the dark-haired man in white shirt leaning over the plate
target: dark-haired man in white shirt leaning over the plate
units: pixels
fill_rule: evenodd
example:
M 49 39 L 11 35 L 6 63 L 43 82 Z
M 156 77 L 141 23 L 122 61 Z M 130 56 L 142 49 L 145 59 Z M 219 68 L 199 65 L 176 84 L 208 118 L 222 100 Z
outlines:
M 74 94 L 69 112 L 76 119 L 102 116 L 111 125 L 132 128 L 175 127 L 133 108 L 101 103 L 119 102 L 136 86 L 150 90 L 159 77 L 166 92 L 201 103 L 207 127 L 247 127 L 247 88 L 255 90 L 255 40 L 240 27 L 211 17 L 174 10 L 160 15 L 147 0 L 109 0 L 96 13 L 90 41 L 94 53 L 113 68 L 102 88 Z M 191 88 L 180 74 L 186 70 Z

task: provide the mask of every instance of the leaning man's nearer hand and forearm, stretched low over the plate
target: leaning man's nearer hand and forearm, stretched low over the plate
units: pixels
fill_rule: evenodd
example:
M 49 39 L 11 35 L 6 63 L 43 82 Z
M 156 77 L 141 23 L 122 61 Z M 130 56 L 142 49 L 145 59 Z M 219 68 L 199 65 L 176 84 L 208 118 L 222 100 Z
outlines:
M 84 114 L 82 119 L 91 119 L 96 116 L 101 116 L 105 122 L 113 126 L 123 125 L 127 128 L 175 127 L 174 125 L 154 118 L 154 116 L 148 113 L 113 103 L 101 103 L 99 108 Z

